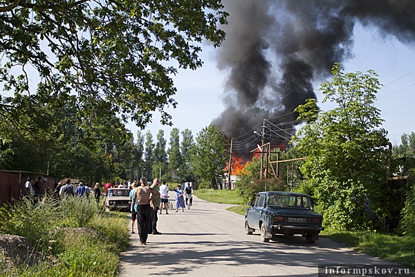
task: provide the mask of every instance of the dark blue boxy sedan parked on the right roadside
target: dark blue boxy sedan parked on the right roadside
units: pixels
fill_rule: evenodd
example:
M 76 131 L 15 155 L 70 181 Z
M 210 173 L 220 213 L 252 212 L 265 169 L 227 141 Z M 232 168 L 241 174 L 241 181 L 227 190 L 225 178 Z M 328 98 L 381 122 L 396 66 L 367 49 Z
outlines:
M 248 235 L 261 232 L 262 242 L 273 235 L 302 235 L 307 243 L 318 240 L 324 230 L 323 216 L 313 211 L 310 197 L 301 193 L 266 191 L 257 194 L 255 202 L 245 211 L 245 229 Z

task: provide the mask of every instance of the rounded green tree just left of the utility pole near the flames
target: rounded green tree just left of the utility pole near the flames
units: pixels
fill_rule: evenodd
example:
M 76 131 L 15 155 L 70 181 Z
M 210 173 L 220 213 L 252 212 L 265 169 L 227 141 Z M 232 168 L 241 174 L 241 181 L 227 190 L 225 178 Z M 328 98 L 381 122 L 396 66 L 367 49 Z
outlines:
M 225 134 L 216 125 L 203 128 L 196 136 L 196 145 L 192 151 L 191 166 L 201 182 L 199 187 L 218 188 L 229 157 Z

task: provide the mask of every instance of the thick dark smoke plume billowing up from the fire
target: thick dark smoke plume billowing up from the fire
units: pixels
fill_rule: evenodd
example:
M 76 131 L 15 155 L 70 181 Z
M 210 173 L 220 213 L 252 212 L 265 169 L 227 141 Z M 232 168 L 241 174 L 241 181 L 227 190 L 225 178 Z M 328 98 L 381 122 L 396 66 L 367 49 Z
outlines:
M 353 57 L 357 22 L 400 42 L 415 39 L 412 0 L 223 0 L 230 13 L 223 29 L 217 67 L 227 73 L 225 110 L 212 123 L 241 140 L 260 131 L 264 118 L 291 122 L 307 98 L 316 98 L 313 82 L 327 78 L 334 62 Z M 283 126 L 292 133 L 294 123 Z M 277 132 L 277 131 L 275 131 Z M 289 139 L 289 132 L 279 136 Z M 244 136 L 246 134 L 246 136 Z M 273 136 L 273 139 L 278 139 Z

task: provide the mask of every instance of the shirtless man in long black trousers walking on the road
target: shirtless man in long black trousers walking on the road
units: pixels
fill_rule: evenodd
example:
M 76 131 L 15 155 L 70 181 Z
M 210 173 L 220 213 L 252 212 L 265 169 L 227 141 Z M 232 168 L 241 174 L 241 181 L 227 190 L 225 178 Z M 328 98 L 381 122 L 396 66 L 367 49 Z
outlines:
M 154 196 L 151 196 L 154 195 Z M 140 186 L 136 188 L 133 197 L 133 203 L 137 201 L 137 225 L 138 225 L 138 237 L 140 238 L 140 244 L 146 244 L 149 231 L 151 231 L 151 206 L 150 202 L 153 198 L 160 196 L 157 190 L 147 186 L 147 178 L 141 177 Z

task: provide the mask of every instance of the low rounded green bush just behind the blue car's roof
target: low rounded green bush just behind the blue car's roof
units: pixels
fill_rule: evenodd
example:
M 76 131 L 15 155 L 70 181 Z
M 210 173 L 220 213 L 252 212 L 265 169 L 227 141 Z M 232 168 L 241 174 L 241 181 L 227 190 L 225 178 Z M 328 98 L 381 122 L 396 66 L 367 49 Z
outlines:
M 243 190 L 242 196 L 247 202 L 252 202 L 255 199 L 257 193 L 261 191 L 289 191 L 285 182 L 282 179 L 257 179 L 246 186 Z

